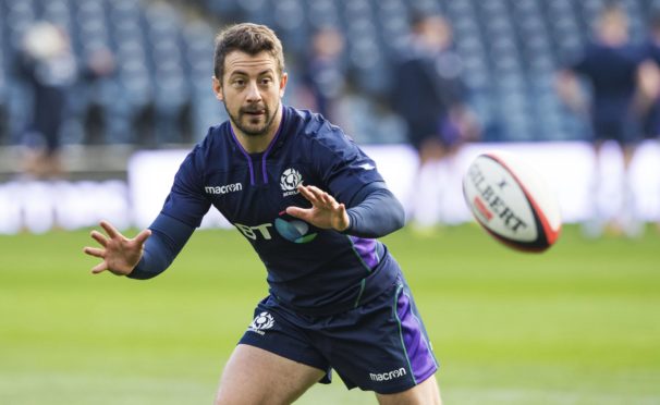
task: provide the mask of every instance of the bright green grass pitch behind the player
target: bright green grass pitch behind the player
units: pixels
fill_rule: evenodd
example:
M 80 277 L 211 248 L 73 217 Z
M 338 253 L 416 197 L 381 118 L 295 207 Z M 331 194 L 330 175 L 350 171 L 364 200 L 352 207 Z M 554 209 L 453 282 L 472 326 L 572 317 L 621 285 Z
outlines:
M 660 404 L 660 235 L 564 230 L 520 254 L 475 225 L 386 238 L 445 404 Z M 0 236 L 0 404 L 210 404 L 266 293 L 235 231 L 197 232 L 151 281 L 91 275 L 87 231 Z M 375 404 L 339 378 L 300 404 Z

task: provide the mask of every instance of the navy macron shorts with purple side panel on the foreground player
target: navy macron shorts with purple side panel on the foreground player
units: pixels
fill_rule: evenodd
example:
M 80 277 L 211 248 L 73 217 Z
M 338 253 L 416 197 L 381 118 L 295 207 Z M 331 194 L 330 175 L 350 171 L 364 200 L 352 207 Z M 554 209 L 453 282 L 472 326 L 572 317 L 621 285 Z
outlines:
M 268 296 L 240 343 L 326 371 L 349 389 L 381 394 L 408 390 L 438 369 L 413 295 L 402 275 L 363 306 L 331 316 L 307 316 Z

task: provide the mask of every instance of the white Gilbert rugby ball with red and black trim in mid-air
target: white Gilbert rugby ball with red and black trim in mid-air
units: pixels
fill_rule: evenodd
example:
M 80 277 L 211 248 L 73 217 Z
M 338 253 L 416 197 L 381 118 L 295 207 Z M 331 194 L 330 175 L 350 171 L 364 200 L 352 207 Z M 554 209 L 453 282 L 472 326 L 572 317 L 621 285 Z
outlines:
M 559 204 L 543 179 L 518 156 L 477 156 L 463 176 L 463 196 L 488 233 L 524 251 L 543 251 L 561 231 Z

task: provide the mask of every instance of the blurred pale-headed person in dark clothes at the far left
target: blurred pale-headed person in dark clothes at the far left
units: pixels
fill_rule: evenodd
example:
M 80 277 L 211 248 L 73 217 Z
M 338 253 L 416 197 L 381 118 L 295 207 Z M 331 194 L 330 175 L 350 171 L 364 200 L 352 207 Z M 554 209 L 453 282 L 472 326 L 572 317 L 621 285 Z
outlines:
M 32 88 L 33 109 L 25 132 L 24 170 L 37 177 L 62 174 L 60 130 L 66 91 L 76 76 L 70 40 L 58 26 L 38 22 L 27 28 L 19 56 L 19 73 Z

